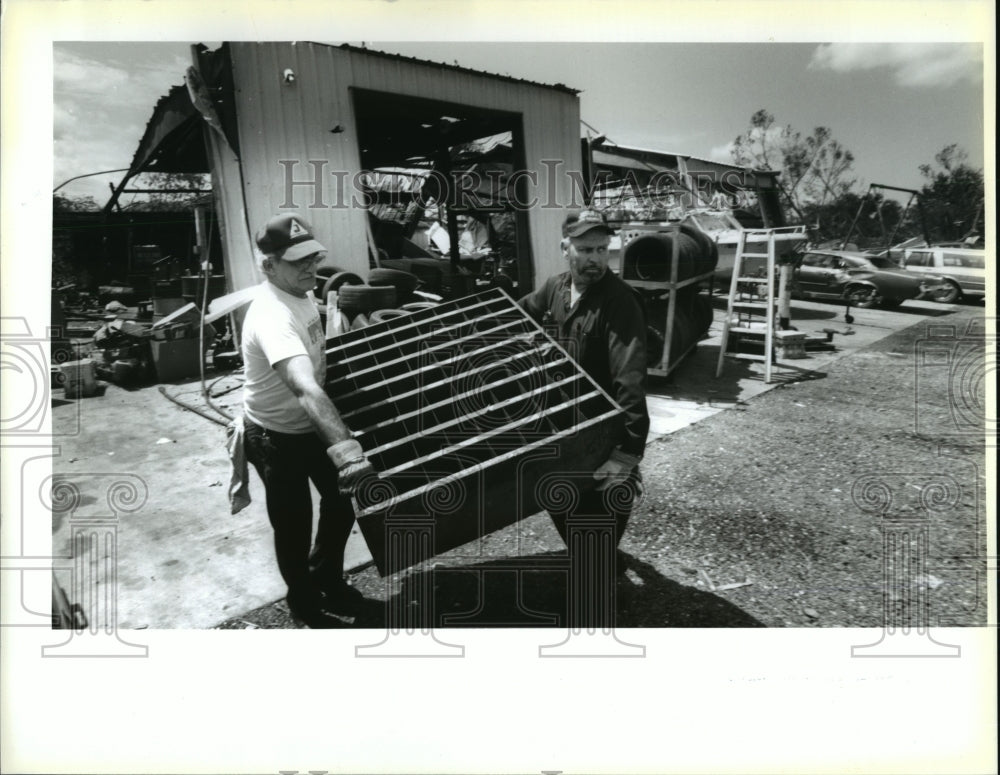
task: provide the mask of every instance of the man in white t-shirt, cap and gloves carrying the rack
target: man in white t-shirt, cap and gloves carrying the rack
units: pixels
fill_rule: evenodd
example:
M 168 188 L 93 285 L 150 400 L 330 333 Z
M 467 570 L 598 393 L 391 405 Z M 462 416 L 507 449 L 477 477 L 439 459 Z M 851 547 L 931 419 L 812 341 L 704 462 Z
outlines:
M 327 611 L 355 613 L 363 601 L 344 580 L 344 547 L 350 493 L 374 471 L 322 387 L 326 339 L 312 288 L 326 248 L 297 213 L 271 218 L 257 247 L 266 281 L 243 323 L 247 460 L 264 482 L 289 609 L 334 626 Z M 320 494 L 314 547 L 310 480 Z

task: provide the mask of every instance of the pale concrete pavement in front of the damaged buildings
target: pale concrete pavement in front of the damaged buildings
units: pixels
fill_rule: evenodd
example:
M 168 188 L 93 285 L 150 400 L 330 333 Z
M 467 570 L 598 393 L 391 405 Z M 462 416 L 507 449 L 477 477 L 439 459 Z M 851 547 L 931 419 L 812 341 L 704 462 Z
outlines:
M 650 443 L 744 405 L 779 384 L 798 381 L 810 370 L 821 370 L 895 331 L 946 317 L 956 309 L 913 301 L 894 311 L 853 309 L 854 321 L 848 326 L 843 307 L 793 302 L 793 325 L 815 336 L 823 336 L 824 328 L 837 329 L 841 333 L 834 335 L 836 349 L 788 361 L 787 368 L 774 369 L 772 382 L 765 384 L 762 364 L 747 361 L 727 359 L 721 377 L 715 378 L 725 300 L 715 301 L 716 322 L 708 338 L 668 378 L 651 380 Z M 238 376 L 211 375 L 208 381 L 219 396 L 213 401 L 216 406 L 238 410 Z M 175 398 L 206 409 L 198 380 L 164 387 Z M 124 390 L 109 385 L 103 395 L 77 400 L 66 400 L 56 390 L 53 404 L 55 428 L 67 433 L 60 439 L 53 473 L 75 486 L 79 512 L 106 502 L 115 481 L 139 487 L 140 501 L 117 514 L 119 627 L 210 628 L 284 595 L 263 488 L 254 474 L 253 502 L 239 514 L 229 513 L 230 465 L 222 426 L 168 400 L 156 386 Z M 57 556 L 71 554 L 73 516 L 73 512 L 53 516 Z M 348 568 L 369 560 L 356 530 Z M 68 572 L 56 575 L 70 589 Z

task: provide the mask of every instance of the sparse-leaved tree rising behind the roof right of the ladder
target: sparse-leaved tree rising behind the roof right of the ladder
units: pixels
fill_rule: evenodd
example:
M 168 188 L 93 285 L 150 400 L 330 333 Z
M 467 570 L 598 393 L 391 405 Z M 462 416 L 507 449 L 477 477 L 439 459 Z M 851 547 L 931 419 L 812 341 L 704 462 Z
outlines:
M 767 110 L 750 118 L 750 128 L 733 141 L 736 164 L 753 169 L 780 170 L 782 203 L 800 223 L 808 210 L 824 207 L 851 191 L 854 154 L 833 137 L 828 127 L 803 136 L 791 126 L 777 126 Z

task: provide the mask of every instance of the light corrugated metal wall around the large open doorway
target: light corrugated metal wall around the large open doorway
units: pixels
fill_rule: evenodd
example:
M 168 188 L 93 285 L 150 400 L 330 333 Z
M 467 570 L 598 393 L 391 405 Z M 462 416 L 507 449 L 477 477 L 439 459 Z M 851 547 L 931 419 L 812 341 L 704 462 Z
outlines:
M 526 192 L 528 202 L 537 200 L 528 213 L 535 281 L 565 268 L 559 251 L 563 209 L 558 205 L 571 197 L 566 171 L 581 168 L 580 107 L 575 95 L 314 43 L 230 46 L 243 196 L 251 230 L 283 205 L 294 204 L 329 248 L 329 263 L 362 275 L 368 271 L 365 210 L 343 201 L 345 192 L 337 190 L 332 174 L 346 172 L 349 184 L 359 169 L 350 93 L 356 87 L 522 114 L 525 167 L 538 176 L 537 184 L 529 182 Z M 285 82 L 286 69 L 294 72 L 294 83 Z M 337 124 L 345 131 L 331 132 Z M 547 174 L 545 160 L 550 166 L 560 162 L 558 174 Z M 281 161 L 297 162 L 298 180 L 312 180 L 310 162 L 325 161 L 322 190 L 296 186 L 292 201 L 287 201 Z M 346 193 L 348 197 L 353 193 L 350 185 Z M 238 212 L 234 194 L 227 191 L 223 196 L 227 209 Z M 227 229 L 239 226 L 237 219 L 227 219 Z M 229 240 L 229 244 L 240 243 Z

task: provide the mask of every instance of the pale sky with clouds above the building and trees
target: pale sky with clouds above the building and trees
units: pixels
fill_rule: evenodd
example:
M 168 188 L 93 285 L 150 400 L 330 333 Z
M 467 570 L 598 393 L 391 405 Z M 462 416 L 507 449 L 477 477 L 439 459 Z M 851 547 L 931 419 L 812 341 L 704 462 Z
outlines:
M 621 145 L 729 162 L 733 139 L 765 108 L 803 134 L 829 127 L 854 153 L 861 186 L 919 188 L 919 166 L 951 143 L 984 163 L 980 44 L 363 42 L 578 89 L 581 119 Z M 53 188 L 127 167 L 156 100 L 189 62 L 190 43 L 57 42 Z M 62 192 L 103 203 L 120 177 Z

